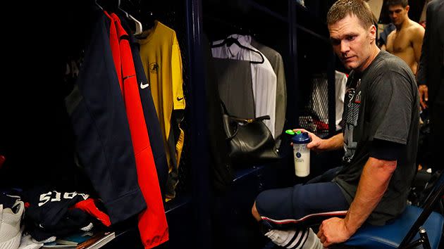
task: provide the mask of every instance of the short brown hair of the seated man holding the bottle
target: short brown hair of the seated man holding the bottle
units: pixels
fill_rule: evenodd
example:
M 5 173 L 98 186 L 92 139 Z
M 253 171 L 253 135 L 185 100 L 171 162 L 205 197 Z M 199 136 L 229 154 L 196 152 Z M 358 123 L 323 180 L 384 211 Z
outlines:
M 339 20 L 343 20 L 347 15 L 355 15 L 364 29 L 375 25 L 377 22 L 375 15 L 366 1 L 363 0 L 338 0 L 327 13 L 327 25 L 333 25 Z

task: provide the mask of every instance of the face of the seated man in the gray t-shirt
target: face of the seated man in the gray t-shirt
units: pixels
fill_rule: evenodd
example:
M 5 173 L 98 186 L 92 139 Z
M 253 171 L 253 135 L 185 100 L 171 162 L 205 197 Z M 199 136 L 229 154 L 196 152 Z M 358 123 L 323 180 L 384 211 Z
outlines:
M 376 35 L 374 25 L 366 30 L 355 15 L 347 15 L 333 25 L 328 25 L 328 30 L 333 51 L 345 68 L 362 72 L 370 65 L 372 42 Z

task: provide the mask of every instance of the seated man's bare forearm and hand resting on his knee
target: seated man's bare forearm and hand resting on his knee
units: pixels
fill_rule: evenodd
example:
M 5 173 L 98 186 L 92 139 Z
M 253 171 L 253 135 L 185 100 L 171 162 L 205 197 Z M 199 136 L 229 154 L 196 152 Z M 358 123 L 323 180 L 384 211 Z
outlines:
M 362 226 L 386 192 L 396 169 L 396 160 L 369 158 L 362 170 L 356 196 L 344 219 L 326 219 L 319 226 L 323 247 L 347 241 Z

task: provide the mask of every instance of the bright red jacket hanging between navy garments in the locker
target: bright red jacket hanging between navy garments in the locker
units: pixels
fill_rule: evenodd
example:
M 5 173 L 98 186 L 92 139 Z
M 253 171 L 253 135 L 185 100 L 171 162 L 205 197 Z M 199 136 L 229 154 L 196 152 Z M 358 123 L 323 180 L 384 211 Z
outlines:
M 135 75 L 134 63 L 127 32 L 123 29 L 121 21 L 116 14 L 111 13 L 116 34 L 118 37 L 118 51 L 116 39 L 110 37 L 111 50 L 114 61 L 116 57 L 121 58 L 121 68 L 116 65 L 116 70 L 121 70 L 121 84 L 123 100 L 130 125 L 132 147 L 134 148 L 137 179 L 140 189 L 147 203 L 147 209 L 139 215 L 139 231 L 145 248 L 153 248 L 168 241 L 168 224 L 166 222 L 164 203 L 161 197 L 159 180 L 157 178 L 156 166 L 152 154 L 147 125 L 144 121 L 142 103 L 140 102 L 137 77 Z M 111 25 L 111 27 L 113 27 Z M 112 32 L 110 31 L 110 34 Z M 119 73 L 118 73 L 119 75 Z

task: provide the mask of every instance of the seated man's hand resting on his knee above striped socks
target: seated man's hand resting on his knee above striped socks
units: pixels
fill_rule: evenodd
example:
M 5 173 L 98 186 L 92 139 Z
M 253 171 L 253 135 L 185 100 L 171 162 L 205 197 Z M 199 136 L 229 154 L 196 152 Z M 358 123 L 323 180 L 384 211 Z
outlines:
M 326 219 L 319 226 L 318 238 L 321 240 L 322 246 L 328 248 L 328 246 L 336 243 L 342 243 L 347 241 L 355 231 L 349 231 L 345 225 L 345 219 L 333 217 Z

